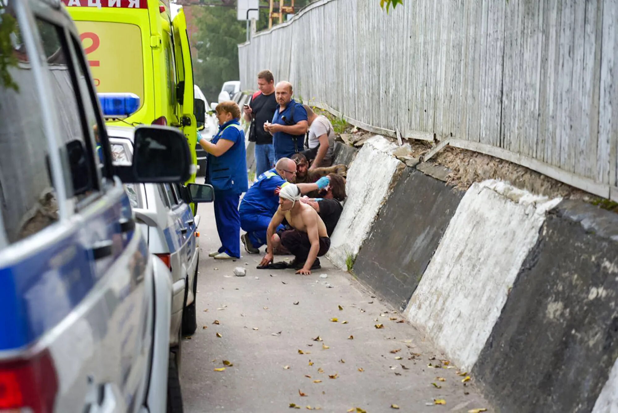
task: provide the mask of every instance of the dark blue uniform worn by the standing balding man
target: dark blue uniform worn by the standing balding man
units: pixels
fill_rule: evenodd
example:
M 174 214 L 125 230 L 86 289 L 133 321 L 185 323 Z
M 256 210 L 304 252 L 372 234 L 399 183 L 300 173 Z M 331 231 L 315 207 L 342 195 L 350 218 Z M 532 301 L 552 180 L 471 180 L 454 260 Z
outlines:
M 286 109 L 279 112 L 281 106 L 277 106 L 274 111 L 273 122 L 279 125 L 292 126 L 300 121 L 307 121 L 307 111 L 303 105 L 297 103 L 294 99 L 287 104 Z M 286 121 L 283 117 L 286 117 Z M 281 158 L 292 158 L 292 155 L 304 150 L 303 142 L 305 135 L 290 135 L 286 132 L 276 132 L 273 134 L 274 161 Z

